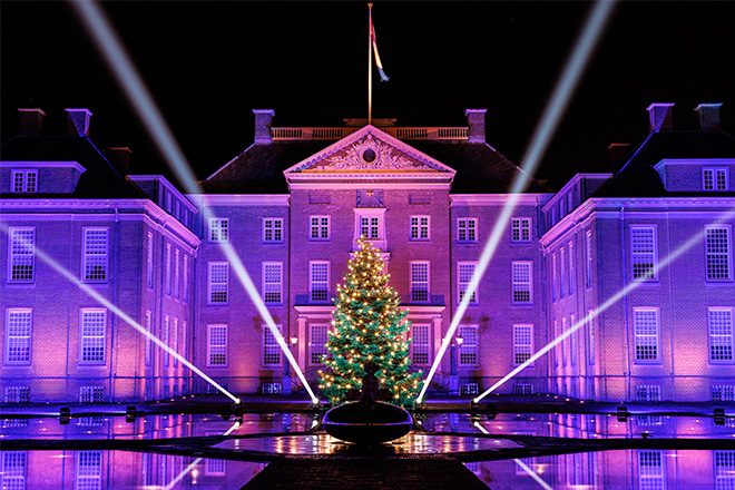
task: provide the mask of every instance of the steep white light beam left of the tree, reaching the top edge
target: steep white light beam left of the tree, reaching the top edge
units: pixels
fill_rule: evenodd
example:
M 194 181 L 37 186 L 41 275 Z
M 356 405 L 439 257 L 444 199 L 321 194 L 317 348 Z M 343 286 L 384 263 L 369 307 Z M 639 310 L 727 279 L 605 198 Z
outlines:
M 128 99 L 130 99 L 140 121 L 145 125 L 146 129 L 158 146 L 166 163 L 178 176 L 180 185 L 188 194 L 202 194 L 202 189 L 194 184 L 196 177 L 192 171 L 190 166 L 187 164 L 184 153 L 176 144 L 176 139 L 166 125 L 165 119 L 154 102 L 146 85 L 138 75 L 133 61 L 127 56 L 119 39 L 115 36 L 112 27 L 109 24 L 97 3 L 95 1 L 71 1 L 70 3 L 77 10 L 88 31 L 97 42 L 107 63 L 117 77 L 120 87 L 126 92 Z M 207 223 L 210 217 L 215 217 L 204 200 L 202 202 L 202 216 L 204 223 Z M 308 385 L 304 373 L 298 366 L 296 359 L 291 353 L 283 335 L 278 332 L 278 327 L 273 321 L 271 312 L 268 312 L 265 303 L 263 303 L 257 287 L 253 284 L 253 281 L 247 274 L 247 271 L 235 252 L 235 248 L 229 243 L 220 243 L 220 246 L 225 256 L 229 261 L 233 272 L 251 296 L 261 317 L 271 330 L 278 346 L 281 346 L 281 351 L 296 372 L 304 389 L 308 392 L 312 403 L 318 403 L 318 399 Z

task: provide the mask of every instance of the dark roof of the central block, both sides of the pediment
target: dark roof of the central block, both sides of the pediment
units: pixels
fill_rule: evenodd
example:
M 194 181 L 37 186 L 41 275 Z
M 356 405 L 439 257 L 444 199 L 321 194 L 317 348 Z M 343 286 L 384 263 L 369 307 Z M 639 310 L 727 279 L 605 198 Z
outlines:
M 202 183 L 205 194 L 287 194 L 283 170 L 334 144 L 321 141 L 276 141 L 256 144 Z M 406 140 L 408 145 L 457 170 L 452 194 L 508 193 L 520 168 L 489 145 Z M 550 193 L 532 179 L 527 193 Z

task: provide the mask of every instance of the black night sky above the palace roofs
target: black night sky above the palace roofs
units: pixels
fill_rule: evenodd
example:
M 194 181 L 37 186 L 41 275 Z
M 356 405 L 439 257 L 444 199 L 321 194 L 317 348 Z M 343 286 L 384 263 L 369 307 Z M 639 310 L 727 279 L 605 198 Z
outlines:
M 590 6 L 375 2 L 391 79 L 373 89 L 373 117 L 464 126 L 465 108 L 487 108 L 488 143 L 521 164 Z M 274 126 L 366 117 L 366 2 L 101 7 L 200 178 L 253 143 L 253 108 L 274 109 Z M 168 174 L 68 3 L 2 1 L 0 14 L 3 141 L 19 107 L 40 107 L 59 130 L 63 108 L 87 107 L 98 146 L 129 146 L 134 173 Z M 734 19 L 732 1 L 620 2 L 536 177 L 559 188 L 577 171 L 607 171 L 608 144 L 647 135 L 650 102 L 676 104 L 679 129 L 696 128 L 697 104 L 723 102 L 735 133 Z

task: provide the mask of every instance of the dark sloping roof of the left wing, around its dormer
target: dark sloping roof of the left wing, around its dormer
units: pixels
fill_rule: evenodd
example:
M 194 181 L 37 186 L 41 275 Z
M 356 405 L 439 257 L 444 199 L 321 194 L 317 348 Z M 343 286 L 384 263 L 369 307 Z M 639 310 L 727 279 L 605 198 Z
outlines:
M 26 136 L 19 135 L 0 148 L 3 161 L 77 161 L 87 171 L 81 174 L 72 194 L 35 193 L 32 198 L 74 197 L 85 199 L 147 198 L 134 184 L 125 178 L 125 171 L 116 168 L 87 137 Z M 28 198 L 28 194 L 8 197 Z

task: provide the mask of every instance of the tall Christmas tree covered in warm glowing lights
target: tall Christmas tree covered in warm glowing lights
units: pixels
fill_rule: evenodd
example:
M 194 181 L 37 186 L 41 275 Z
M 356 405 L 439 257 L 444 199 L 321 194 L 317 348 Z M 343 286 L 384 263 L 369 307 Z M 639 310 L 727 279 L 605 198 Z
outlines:
M 320 389 L 333 405 L 343 403 L 350 390 L 362 386 L 365 366 L 378 366 L 380 389 L 395 404 L 410 404 L 420 390 L 421 372 L 411 372 L 409 322 L 399 310 L 400 296 L 388 285 L 380 249 L 362 237 L 360 249 L 347 264 L 344 284 L 337 285 L 336 310 L 329 334 Z

